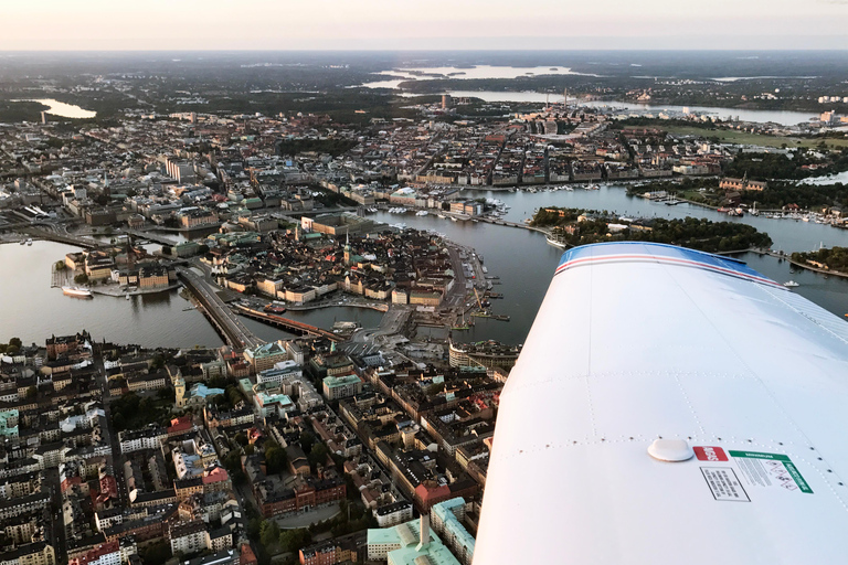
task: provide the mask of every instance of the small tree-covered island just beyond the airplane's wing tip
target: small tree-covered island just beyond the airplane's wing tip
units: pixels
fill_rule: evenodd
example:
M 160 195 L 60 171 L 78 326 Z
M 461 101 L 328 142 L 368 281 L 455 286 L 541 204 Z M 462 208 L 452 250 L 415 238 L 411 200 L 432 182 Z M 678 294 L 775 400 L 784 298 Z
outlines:
M 545 207 L 533 215 L 530 225 L 550 228 L 554 239 L 573 246 L 600 242 L 651 242 L 721 253 L 772 245 L 768 234 L 748 224 L 695 217 L 624 221 L 606 211 Z

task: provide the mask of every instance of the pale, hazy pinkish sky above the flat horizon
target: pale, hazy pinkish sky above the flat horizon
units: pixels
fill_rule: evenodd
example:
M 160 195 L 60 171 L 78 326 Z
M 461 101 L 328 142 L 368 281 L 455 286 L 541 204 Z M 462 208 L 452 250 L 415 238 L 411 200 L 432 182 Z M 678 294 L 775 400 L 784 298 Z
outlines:
M 848 0 L 0 0 L 0 17 L 2 51 L 848 49 Z

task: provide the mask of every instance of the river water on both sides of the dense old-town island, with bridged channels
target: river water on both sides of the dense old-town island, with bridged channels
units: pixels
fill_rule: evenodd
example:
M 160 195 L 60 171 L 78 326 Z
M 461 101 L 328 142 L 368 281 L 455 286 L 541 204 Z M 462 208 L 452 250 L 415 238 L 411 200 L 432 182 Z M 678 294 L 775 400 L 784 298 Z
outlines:
M 714 221 L 746 222 L 767 232 L 774 248 L 785 252 L 808 250 L 822 243 L 827 246 L 848 246 L 848 231 L 823 224 L 768 220 L 744 216 L 729 218 L 724 214 L 690 204 L 666 206 L 639 198 L 627 196 L 623 188 L 602 185 L 597 191 L 574 192 L 507 192 L 466 191 L 468 198 L 499 199 L 511 206 L 507 218 L 522 222 L 540 206 L 572 206 L 615 211 L 627 216 L 682 217 L 687 215 Z M 385 223 L 404 222 L 410 227 L 433 230 L 451 239 L 476 248 L 483 255 L 489 274 L 500 277 L 494 290 L 505 295 L 492 300 L 497 313 L 510 316 L 509 322 L 475 319 L 470 331 L 457 331 L 462 341 L 497 339 L 507 343 L 523 342 L 536 318 L 536 312 L 562 252 L 548 245 L 544 237 L 528 230 L 474 222 L 451 222 L 434 215 L 403 216 L 379 212 L 371 216 Z M 183 347 L 195 344 L 218 347 L 221 338 L 206 319 L 189 309 L 190 303 L 177 291 L 134 297 L 131 300 L 97 296 L 93 300 L 68 298 L 60 289 L 50 288 L 51 265 L 64 254 L 74 250 L 67 245 L 35 242 L 32 246 L 0 245 L 0 342 L 18 335 L 25 343 L 38 342 L 50 334 L 63 334 L 87 329 L 95 339 L 138 343 L 145 347 Z M 784 282 L 794 279 L 801 284 L 794 291 L 842 316 L 848 312 L 848 280 L 825 278 L 812 271 L 793 273 L 786 262 L 745 254 L 749 262 L 764 275 Z M 365 328 L 375 327 L 381 312 L 356 308 L 328 308 L 288 316 L 314 326 L 330 328 L 333 321 L 359 321 Z M 286 339 L 289 333 L 244 319 L 245 324 L 262 339 Z

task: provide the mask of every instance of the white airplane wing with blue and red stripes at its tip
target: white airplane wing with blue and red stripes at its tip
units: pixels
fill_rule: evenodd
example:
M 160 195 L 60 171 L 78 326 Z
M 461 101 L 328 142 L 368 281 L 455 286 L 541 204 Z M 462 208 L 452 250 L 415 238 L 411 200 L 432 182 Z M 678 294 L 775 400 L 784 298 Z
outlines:
M 475 565 L 848 563 L 848 323 L 744 264 L 562 256 L 504 393 Z

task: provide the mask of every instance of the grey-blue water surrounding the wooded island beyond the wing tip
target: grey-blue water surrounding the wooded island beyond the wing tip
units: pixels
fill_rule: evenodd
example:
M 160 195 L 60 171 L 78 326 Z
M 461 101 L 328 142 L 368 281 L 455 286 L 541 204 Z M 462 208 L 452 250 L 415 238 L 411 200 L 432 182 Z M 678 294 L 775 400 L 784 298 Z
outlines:
M 494 198 L 510 205 L 506 220 L 521 223 L 531 217 L 541 206 L 571 206 L 592 210 L 615 211 L 629 217 L 708 217 L 713 221 L 746 222 L 767 232 L 774 239 L 773 247 L 785 252 L 809 250 L 826 246 L 848 246 L 848 232 L 823 224 L 795 222 L 793 220 L 768 220 L 744 216 L 731 218 L 713 210 L 690 204 L 666 206 L 640 198 L 627 196 L 623 188 L 602 186 L 597 191 L 574 192 L 506 192 L 506 191 L 467 191 L 469 198 Z M 479 341 L 496 339 L 507 343 L 522 343 L 536 318 L 536 312 L 544 298 L 544 292 L 562 250 L 549 245 L 544 236 L 528 230 L 491 225 L 483 222 L 452 222 L 435 215 L 399 216 L 380 212 L 370 217 L 386 223 L 403 222 L 409 227 L 432 230 L 445 234 L 448 238 L 470 247 L 483 255 L 489 275 L 498 276 L 500 285 L 492 290 L 505 295 L 502 300 L 492 300 L 492 310 L 510 317 L 509 322 L 475 318 L 475 326 L 468 331 L 454 332 L 459 341 Z M 796 280 L 801 287 L 794 291 L 842 316 L 848 312 L 848 280 L 839 277 L 825 278 L 822 275 L 792 267 L 788 262 L 778 262 L 748 253 L 740 258 L 752 265 L 763 275 L 780 282 Z

